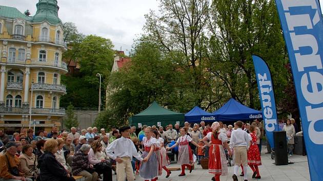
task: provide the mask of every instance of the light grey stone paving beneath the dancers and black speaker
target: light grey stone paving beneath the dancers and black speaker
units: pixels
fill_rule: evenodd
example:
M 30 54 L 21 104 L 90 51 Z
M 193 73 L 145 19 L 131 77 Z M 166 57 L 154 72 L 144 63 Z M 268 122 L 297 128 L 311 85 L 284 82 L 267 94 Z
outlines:
M 305 181 L 310 180 L 309 167 L 307 162 L 307 156 L 302 155 L 293 155 L 288 157 L 289 161 L 294 164 L 276 166 L 274 160 L 271 160 L 270 154 L 265 154 L 267 151 L 266 147 L 263 146 L 261 153 L 261 161 L 263 165 L 259 166 L 259 171 L 261 179 L 251 178 L 252 171 L 248 169 L 248 180 L 259 180 L 259 181 Z M 171 164 L 169 167 L 180 167 L 178 164 Z M 223 180 L 232 180 L 233 167 L 228 167 L 229 175 L 221 176 L 221 181 Z M 163 170 L 163 175 L 158 177 L 158 180 L 187 180 L 187 181 L 196 181 L 196 180 L 211 180 L 212 175 L 208 173 L 208 170 L 203 170 L 200 165 L 195 164 L 195 169 L 192 173 L 189 173 L 189 170 L 186 170 L 186 176 L 179 177 L 180 171 L 172 171 L 170 177 L 165 178 L 166 172 Z M 241 168 L 239 169 L 239 173 Z M 239 180 L 244 180 L 243 177 L 238 176 Z M 113 175 L 113 180 L 116 180 L 116 175 Z M 136 175 L 136 180 L 143 180 L 139 175 Z

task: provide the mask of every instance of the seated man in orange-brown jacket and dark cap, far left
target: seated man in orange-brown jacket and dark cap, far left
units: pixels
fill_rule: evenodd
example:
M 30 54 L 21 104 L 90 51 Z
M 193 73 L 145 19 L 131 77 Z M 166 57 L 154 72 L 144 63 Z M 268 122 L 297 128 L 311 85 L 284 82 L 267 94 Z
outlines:
M 17 175 L 12 174 L 12 170 L 18 170 L 20 165 L 20 160 L 15 156 L 17 152 L 17 145 L 14 142 L 8 142 L 6 144 L 7 152 L 0 156 L 0 180 L 1 181 L 32 181 L 30 178 L 24 177 L 24 174 L 19 172 Z M 9 163 L 9 164 L 8 164 Z M 8 168 L 11 167 L 11 171 Z

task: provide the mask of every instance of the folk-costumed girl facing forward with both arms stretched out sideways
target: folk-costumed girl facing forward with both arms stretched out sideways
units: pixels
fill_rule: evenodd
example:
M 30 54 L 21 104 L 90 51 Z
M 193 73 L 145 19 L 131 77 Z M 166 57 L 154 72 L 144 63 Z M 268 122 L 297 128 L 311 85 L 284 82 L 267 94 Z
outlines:
M 183 127 L 179 129 L 181 136 L 178 138 L 177 142 L 171 146 L 167 147 L 166 150 L 170 150 L 175 146 L 179 145 L 178 147 L 178 159 L 177 163 L 181 165 L 181 173 L 178 176 L 185 175 L 185 166 L 190 169 L 190 173 L 192 172 L 193 166 L 193 152 L 191 147 L 189 146 L 189 142 L 191 142 L 196 147 L 200 147 L 197 143 L 193 141 L 193 139 L 187 135 L 187 128 Z

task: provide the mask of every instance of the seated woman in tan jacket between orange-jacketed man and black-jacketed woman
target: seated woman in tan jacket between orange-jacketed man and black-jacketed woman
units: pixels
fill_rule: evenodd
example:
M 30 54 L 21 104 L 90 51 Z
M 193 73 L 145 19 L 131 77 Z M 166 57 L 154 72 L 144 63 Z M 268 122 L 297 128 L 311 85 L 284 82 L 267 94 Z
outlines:
M 23 146 L 23 154 L 19 156 L 20 170 L 25 174 L 27 178 L 34 178 L 35 176 L 35 159 L 36 156 L 32 153 L 32 145 Z

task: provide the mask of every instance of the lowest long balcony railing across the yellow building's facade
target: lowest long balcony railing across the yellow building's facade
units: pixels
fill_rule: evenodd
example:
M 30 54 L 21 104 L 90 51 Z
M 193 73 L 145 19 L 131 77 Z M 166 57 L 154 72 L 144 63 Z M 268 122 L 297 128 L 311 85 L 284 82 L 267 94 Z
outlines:
M 29 108 L 23 107 L 0 107 L 2 114 L 29 114 Z M 32 115 L 62 115 L 65 116 L 64 108 L 31 108 Z

